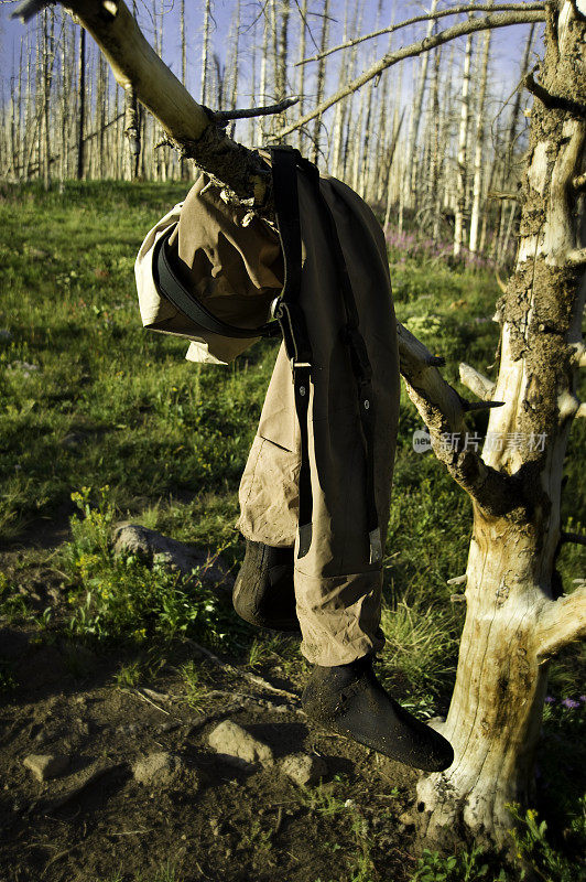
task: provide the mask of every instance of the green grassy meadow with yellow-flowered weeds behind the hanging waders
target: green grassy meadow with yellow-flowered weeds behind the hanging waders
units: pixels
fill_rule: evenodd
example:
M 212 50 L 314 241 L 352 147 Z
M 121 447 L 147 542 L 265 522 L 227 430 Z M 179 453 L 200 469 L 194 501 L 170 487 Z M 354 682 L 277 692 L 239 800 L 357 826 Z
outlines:
M 170 645 L 185 636 L 240 664 L 258 667 L 276 655 L 281 670 L 301 675 L 303 662 L 286 641 L 236 625 L 202 587 L 194 596 L 176 578 L 153 577 L 140 561 L 121 569 L 108 544 L 112 523 L 132 518 L 221 552 L 230 567 L 242 556 L 234 527 L 237 488 L 275 345 L 258 344 L 227 368 L 200 367 L 184 359 L 181 340 L 143 331 L 134 256 L 146 230 L 183 196 L 177 184 L 0 191 L 0 536 L 7 561 L 0 611 L 4 622 L 109 647 L 121 659 L 122 685 L 154 670 L 156 658 L 169 658 Z M 390 259 L 398 316 L 445 356 L 446 378 L 457 384 L 460 361 L 493 376 L 498 288 L 491 273 L 451 269 L 425 251 L 411 256 L 395 246 Z M 486 420 L 476 416 L 470 428 L 482 433 Z M 413 451 L 417 428 L 421 420 L 402 392 L 382 665 L 394 693 L 432 716 L 445 712 L 454 678 L 464 611 L 451 603 L 446 581 L 465 571 L 471 510 L 433 455 Z M 566 466 L 563 523 L 576 531 L 586 523 L 585 428 L 573 428 Z M 28 602 L 40 566 L 61 573 L 66 614 Z M 583 577 L 584 549 L 566 546 L 560 570 L 567 584 Z M 584 730 L 583 671 L 578 647 L 552 666 L 544 723 L 541 798 L 560 854 L 563 831 L 577 836 L 584 808 L 575 759 L 567 761 Z M 0 674 L 12 695 L 19 681 L 8 662 Z M 192 697 L 202 693 L 193 667 L 183 681 Z M 584 745 L 580 755 L 584 766 Z M 530 845 L 545 849 L 539 837 Z M 551 854 L 551 865 L 545 858 L 539 864 L 542 878 L 569 882 L 569 864 Z M 459 864 L 446 876 L 430 868 L 417 878 L 476 878 Z M 354 878 L 379 879 L 368 872 Z

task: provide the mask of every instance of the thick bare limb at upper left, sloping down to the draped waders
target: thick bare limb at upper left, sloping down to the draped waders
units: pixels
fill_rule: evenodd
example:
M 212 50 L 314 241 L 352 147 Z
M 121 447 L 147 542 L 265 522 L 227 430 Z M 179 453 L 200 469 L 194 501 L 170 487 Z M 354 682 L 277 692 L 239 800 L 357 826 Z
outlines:
M 228 138 L 216 125 L 214 112 L 192 98 L 145 40 L 122 0 L 67 0 L 66 9 L 91 34 L 117 83 L 134 89 L 182 154 L 232 191 L 238 201 L 271 217 L 267 164 L 256 151 Z M 15 14 L 31 18 L 31 2 L 21 4 Z

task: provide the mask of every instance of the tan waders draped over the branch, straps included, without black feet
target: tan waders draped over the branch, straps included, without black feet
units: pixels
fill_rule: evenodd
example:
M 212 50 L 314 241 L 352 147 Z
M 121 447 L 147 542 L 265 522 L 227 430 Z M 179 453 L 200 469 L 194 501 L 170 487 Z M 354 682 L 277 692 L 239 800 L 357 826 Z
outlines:
M 192 361 L 226 364 L 282 334 L 237 526 L 251 541 L 295 547 L 302 653 L 341 665 L 383 645 L 399 412 L 387 248 L 352 190 L 296 151 L 271 152 L 279 236 L 245 222 L 247 209 L 226 205 L 204 176 L 146 236 L 139 300 L 145 326 L 194 341 Z M 278 321 L 268 321 L 271 303 Z

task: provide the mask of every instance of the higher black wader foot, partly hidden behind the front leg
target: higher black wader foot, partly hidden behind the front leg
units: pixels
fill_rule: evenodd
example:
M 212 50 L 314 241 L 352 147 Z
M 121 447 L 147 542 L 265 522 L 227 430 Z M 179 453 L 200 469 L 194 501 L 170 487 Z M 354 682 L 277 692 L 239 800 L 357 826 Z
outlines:
M 247 539 L 245 561 L 236 577 L 234 609 L 257 627 L 301 634 L 295 612 L 292 548 L 272 548 Z

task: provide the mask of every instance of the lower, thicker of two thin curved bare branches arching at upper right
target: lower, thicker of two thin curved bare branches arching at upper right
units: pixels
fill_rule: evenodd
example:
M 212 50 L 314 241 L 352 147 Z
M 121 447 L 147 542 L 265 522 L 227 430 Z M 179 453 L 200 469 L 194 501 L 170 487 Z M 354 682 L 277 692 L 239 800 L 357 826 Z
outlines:
M 411 58 L 414 55 L 421 55 L 423 52 L 430 52 L 430 50 L 441 46 L 444 43 L 448 43 L 451 40 L 456 40 L 458 36 L 471 34 L 476 31 L 486 31 L 490 28 L 506 28 L 510 24 L 530 24 L 534 21 L 545 21 L 545 12 L 525 11 L 524 9 L 520 12 L 497 12 L 492 15 L 486 15 L 484 19 L 469 19 L 460 22 L 459 24 L 454 24 L 452 28 L 447 28 L 445 31 L 442 31 L 438 34 L 426 36 L 423 40 L 420 40 L 417 43 L 411 43 L 409 46 L 404 46 L 395 52 L 389 52 L 380 61 L 369 67 L 368 71 L 365 71 L 359 77 L 352 79 L 346 86 L 343 86 L 329 98 L 326 98 L 325 101 L 322 101 L 322 104 L 314 108 L 314 110 L 312 110 L 310 114 L 305 114 L 305 116 L 301 117 L 301 119 L 297 119 L 296 122 L 291 123 L 291 126 L 285 126 L 284 129 L 281 129 L 275 135 L 271 136 L 271 140 L 284 138 L 285 135 L 289 135 L 302 126 L 305 126 L 312 119 L 315 119 L 315 117 L 321 116 L 325 110 L 328 109 L 328 107 L 332 107 L 347 95 L 356 92 L 366 83 L 373 79 L 388 67 L 392 67 L 393 64 L 397 64 L 402 58 Z

